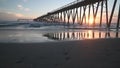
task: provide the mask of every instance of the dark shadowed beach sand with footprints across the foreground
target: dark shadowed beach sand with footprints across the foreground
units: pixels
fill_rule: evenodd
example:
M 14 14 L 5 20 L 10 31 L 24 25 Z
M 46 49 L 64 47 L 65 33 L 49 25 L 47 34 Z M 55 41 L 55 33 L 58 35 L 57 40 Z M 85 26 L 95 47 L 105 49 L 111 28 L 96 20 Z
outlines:
M 120 68 L 120 39 L 0 43 L 0 68 Z

